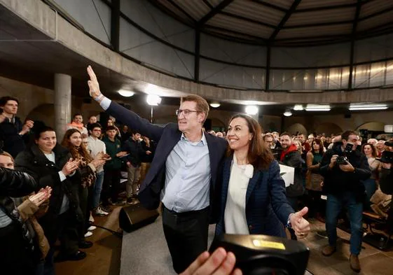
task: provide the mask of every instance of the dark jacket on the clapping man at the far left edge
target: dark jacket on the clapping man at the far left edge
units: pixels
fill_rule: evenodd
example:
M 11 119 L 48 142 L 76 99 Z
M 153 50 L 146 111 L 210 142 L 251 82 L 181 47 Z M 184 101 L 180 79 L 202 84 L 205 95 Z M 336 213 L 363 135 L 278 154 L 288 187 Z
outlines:
M 26 148 L 26 142 L 29 134 L 21 136 L 23 124 L 20 118 L 15 117 L 12 123 L 8 118 L 0 123 L 0 139 L 4 142 L 3 150 L 15 158 L 18 153 Z

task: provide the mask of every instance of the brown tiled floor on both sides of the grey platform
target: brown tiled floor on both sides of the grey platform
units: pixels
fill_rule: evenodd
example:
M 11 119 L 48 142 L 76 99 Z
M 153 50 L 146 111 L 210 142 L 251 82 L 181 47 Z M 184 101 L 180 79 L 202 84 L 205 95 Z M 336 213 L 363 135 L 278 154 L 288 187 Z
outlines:
M 113 210 L 107 218 L 96 218 L 96 223 L 111 230 L 118 230 L 118 211 Z M 342 275 L 357 274 L 350 269 L 348 261 L 350 255 L 350 234 L 338 230 L 338 250 L 331 257 L 324 257 L 322 247 L 327 244 L 327 239 L 319 237 L 316 233 L 324 231 L 324 223 L 311 220 L 312 231 L 304 240 L 310 248 L 308 270 L 314 275 Z M 79 262 L 61 262 L 56 264 L 57 275 L 118 275 L 120 272 L 121 239 L 106 230 L 95 230 L 90 241 L 94 241 L 92 248 L 86 249 L 88 257 Z M 393 275 L 393 251 L 382 252 L 373 246 L 363 243 L 359 256 L 361 263 L 360 274 L 364 275 Z M 139 275 L 139 274 L 132 274 Z M 143 275 L 143 274 L 141 274 Z

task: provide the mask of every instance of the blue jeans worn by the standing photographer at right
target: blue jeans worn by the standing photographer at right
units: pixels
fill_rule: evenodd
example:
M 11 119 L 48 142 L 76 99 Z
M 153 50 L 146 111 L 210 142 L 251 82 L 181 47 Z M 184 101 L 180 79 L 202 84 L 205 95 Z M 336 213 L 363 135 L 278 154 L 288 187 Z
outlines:
M 326 232 L 329 237 L 329 245 L 336 246 L 337 241 L 337 217 L 341 209 L 348 211 L 351 224 L 350 251 L 351 254 L 359 255 L 361 239 L 363 238 L 362 213 L 363 203 L 357 202 L 354 193 L 343 192 L 336 195 L 328 194 L 326 202 Z

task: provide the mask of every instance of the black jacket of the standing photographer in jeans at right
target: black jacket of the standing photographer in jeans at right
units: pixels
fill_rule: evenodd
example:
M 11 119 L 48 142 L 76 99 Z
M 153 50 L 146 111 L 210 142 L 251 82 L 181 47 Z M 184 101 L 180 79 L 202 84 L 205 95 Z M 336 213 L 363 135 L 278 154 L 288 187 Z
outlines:
M 354 150 L 347 155 L 347 159 L 354 167 L 354 172 L 345 172 L 335 165 L 329 168 L 329 163 L 333 155 L 343 156 L 342 143 L 335 143 L 332 149 L 326 151 L 319 166 L 319 173 L 324 177 L 324 192 L 328 194 L 339 194 L 340 192 L 354 192 L 358 201 L 364 199 L 364 184 L 361 181 L 370 178 L 371 170 L 367 162 L 367 157 Z

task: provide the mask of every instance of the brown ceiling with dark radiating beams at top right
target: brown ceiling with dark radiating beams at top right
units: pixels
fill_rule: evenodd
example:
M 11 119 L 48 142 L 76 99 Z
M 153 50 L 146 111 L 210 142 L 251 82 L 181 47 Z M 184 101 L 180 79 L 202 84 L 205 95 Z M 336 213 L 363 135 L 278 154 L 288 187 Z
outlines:
M 393 31 L 388 0 L 151 0 L 209 34 L 247 43 L 316 45 Z

